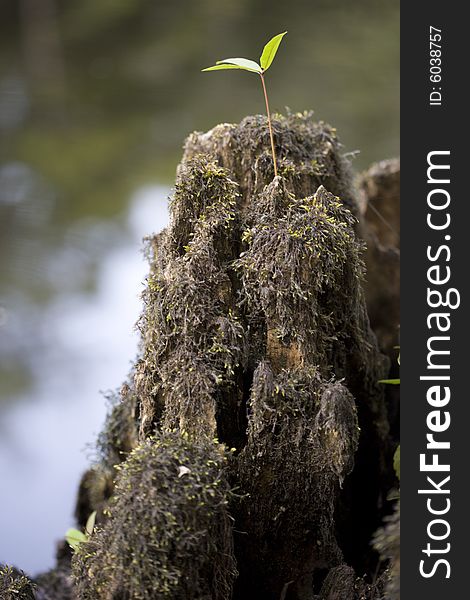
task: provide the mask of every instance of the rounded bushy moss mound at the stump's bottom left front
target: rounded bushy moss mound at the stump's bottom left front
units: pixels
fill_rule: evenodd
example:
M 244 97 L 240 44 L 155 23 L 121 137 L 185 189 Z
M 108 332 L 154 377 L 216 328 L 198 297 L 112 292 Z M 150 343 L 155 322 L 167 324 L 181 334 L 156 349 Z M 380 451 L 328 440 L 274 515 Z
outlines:
M 109 519 L 73 558 L 81 600 L 226 600 L 236 574 L 225 457 L 160 434 L 119 467 Z

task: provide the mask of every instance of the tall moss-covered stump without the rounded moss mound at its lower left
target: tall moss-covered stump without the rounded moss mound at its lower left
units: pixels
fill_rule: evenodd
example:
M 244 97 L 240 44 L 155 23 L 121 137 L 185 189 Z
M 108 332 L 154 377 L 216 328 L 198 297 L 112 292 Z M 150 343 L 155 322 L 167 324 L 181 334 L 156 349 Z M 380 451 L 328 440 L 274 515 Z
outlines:
M 343 561 L 375 569 L 392 475 L 350 166 L 311 115 L 274 129 L 274 180 L 263 117 L 188 139 L 149 243 L 134 384 L 141 439 L 236 448 L 234 598 L 277 600 L 311 598 Z

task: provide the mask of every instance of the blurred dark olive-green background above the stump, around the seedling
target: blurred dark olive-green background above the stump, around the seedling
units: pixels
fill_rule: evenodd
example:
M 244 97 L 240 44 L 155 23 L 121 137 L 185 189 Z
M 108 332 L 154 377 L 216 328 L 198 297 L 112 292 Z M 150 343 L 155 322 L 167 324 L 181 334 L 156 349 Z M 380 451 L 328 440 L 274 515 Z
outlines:
M 115 214 L 139 184 L 171 182 L 184 137 L 262 112 L 241 74 L 208 81 L 215 55 L 257 55 L 292 32 L 273 67 L 272 110 L 313 108 L 358 166 L 398 152 L 398 0 L 4 0 L 0 81 L 28 109 L 1 160 L 31 165 L 56 217 Z M 217 102 L 214 102 L 217 98 Z

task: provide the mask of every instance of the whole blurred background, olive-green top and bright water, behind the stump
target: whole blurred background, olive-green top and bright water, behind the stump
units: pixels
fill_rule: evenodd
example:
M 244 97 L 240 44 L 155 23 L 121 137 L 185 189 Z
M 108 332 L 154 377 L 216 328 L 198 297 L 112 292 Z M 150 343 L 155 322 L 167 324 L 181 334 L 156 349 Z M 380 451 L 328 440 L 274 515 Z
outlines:
M 271 108 L 334 124 L 356 169 L 398 154 L 398 0 L 0 0 L 0 562 L 53 565 L 137 352 L 141 238 L 192 130 Z M 88 448 L 88 450 L 87 450 Z

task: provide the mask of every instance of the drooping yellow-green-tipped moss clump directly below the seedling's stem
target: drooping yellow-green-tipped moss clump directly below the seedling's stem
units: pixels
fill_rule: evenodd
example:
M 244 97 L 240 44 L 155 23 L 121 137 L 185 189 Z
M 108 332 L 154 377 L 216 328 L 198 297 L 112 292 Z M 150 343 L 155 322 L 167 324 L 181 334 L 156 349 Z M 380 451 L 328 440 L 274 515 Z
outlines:
M 362 246 L 339 198 L 323 187 L 305 198 L 288 189 L 279 179 L 257 198 L 235 266 L 251 318 L 262 311 L 282 343 L 295 340 L 306 360 L 328 368 L 341 339 L 360 339 Z

